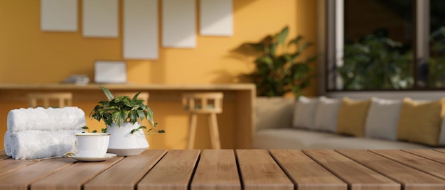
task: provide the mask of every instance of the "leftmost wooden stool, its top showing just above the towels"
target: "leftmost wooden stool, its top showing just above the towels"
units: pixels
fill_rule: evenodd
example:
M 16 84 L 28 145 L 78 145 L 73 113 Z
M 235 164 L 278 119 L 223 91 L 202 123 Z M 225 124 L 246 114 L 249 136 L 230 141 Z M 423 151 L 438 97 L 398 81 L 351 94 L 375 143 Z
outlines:
M 36 108 L 43 104 L 43 108 L 71 106 L 73 104 L 73 94 L 70 92 L 44 92 L 28 94 L 29 106 Z

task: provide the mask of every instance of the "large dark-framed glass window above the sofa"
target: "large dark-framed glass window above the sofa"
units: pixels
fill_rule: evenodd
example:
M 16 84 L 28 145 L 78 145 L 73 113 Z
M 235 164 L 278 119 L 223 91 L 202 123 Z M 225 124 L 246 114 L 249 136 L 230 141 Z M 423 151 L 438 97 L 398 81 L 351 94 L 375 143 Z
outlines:
M 326 0 L 327 91 L 445 88 L 445 1 Z

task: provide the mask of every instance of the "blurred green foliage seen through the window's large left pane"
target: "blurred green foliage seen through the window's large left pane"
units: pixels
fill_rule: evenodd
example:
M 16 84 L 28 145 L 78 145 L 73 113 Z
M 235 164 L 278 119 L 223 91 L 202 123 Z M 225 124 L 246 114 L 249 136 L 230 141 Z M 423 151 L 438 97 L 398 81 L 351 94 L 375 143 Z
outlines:
M 345 44 L 343 66 L 337 71 L 345 90 L 406 89 L 414 84 L 413 53 L 390 38 L 366 35 Z

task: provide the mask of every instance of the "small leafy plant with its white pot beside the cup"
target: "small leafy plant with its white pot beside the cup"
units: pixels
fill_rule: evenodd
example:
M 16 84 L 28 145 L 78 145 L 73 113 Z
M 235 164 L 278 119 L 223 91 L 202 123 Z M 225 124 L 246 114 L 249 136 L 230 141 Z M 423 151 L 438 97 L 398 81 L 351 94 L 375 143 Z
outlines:
M 145 134 L 164 133 L 156 130 L 157 123 L 153 120 L 153 111 L 144 104 L 144 100 L 137 99 L 140 92 L 132 99 L 129 96 L 114 97 L 109 89 L 100 86 L 107 96 L 106 101 L 100 101 L 91 111 L 90 118 L 104 121 L 102 133 L 110 133 L 108 152 L 119 156 L 139 155 L 149 147 Z M 149 128 L 140 124 L 146 119 Z M 146 130 L 146 132 L 144 131 Z

